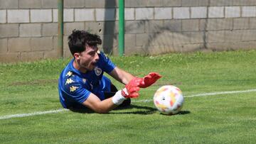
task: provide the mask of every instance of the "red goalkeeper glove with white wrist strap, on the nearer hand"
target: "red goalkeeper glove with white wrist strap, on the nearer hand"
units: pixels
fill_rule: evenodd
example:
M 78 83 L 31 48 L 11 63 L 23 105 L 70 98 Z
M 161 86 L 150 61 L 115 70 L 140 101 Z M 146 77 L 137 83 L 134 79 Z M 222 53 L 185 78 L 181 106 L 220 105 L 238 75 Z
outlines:
M 135 77 L 128 84 L 125 85 L 125 88 L 122 89 L 122 96 L 125 98 L 137 98 L 139 96 L 139 84 L 142 83 L 141 78 Z

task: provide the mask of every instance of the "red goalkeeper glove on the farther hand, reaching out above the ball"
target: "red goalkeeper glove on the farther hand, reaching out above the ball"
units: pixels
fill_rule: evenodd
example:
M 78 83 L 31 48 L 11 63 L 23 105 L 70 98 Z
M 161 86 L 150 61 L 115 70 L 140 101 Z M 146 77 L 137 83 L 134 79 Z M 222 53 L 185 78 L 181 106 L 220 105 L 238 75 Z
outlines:
M 161 75 L 156 72 L 150 72 L 145 77 L 141 78 L 142 82 L 139 83 L 139 87 L 146 88 L 154 84 L 157 79 L 160 79 Z

